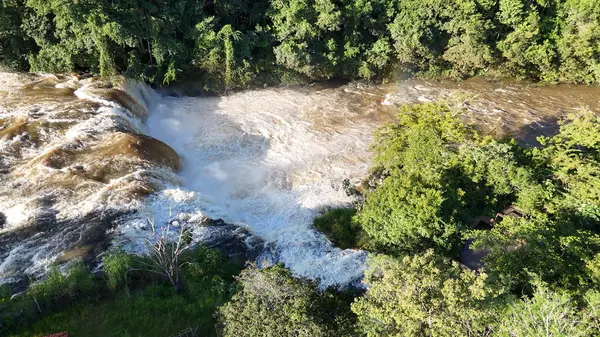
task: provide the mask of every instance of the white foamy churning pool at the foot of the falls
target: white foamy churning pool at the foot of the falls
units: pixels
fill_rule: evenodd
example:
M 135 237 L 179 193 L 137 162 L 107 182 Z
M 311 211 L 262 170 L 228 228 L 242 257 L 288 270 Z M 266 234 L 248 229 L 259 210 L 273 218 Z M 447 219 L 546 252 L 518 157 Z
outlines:
M 261 90 L 164 98 L 147 124 L 151 136 L 183 158 L 183 186 L 195 195 L 187 203 L 247 228 L 296 274 L 323 286 L 347 284 L 362 276 L 365 252 L 333 247 L 312 229 L 312 220 L 325 207 L 351 203 L 342 181 L 366 176 L 371 134 L 382 116 L 352 109 L 344 95 L 351 93 Z

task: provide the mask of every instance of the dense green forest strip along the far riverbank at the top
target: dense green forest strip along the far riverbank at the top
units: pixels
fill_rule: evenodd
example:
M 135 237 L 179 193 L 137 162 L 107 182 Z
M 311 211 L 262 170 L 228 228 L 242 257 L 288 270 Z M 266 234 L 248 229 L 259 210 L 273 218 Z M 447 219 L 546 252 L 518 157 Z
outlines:
M 206 92 L 394 71 L 600 82 L 597 0 L 1 0 L 0 65 Z

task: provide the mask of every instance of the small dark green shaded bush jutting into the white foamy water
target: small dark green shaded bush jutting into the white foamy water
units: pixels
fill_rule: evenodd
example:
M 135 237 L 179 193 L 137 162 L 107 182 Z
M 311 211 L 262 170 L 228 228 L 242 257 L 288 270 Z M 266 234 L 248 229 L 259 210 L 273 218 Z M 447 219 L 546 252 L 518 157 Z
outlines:
M 333 209 L 316 217 L 313 226 L 340 248 L 362 247 L 366 242 L 360 225 L 353 219 L 355 214 L 354 208 Z

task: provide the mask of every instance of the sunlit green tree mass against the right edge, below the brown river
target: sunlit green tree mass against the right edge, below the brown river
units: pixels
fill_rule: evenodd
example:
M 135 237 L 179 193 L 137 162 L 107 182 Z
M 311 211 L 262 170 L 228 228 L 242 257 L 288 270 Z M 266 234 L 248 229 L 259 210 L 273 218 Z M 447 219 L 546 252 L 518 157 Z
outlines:
M 528 272 L 534 272 L 580 298 L 599 284 L 599 132 L 600 119 L 592 113 L 571 115 L 556 136 L 540 139 L 543 147 L 530 151 L 529 171 L 542 184 L 511 175 L 523 177 L 513 183 L 519 186 L 521 205 L 530 205 L 522 207 L 527 217 L 507 218 L 488 232 L 470 234 L 476 247 L 489 250 L 490 273 L 523 289 Z

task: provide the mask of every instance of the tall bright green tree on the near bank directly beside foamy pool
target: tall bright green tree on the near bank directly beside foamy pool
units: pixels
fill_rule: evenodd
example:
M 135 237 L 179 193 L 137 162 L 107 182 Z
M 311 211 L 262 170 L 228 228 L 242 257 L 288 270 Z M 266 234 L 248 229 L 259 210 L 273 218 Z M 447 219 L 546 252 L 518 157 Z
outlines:
M 414 251 L 450 250 L 456 243 L 460 224 L 444 209 L 444 169 L 455 155 L 454 144 L 471 137 L 444 109 L 405 107 L 398 123 L 376 134 L 374 162 L 387 176 L 357 215 L 375 244 Z

